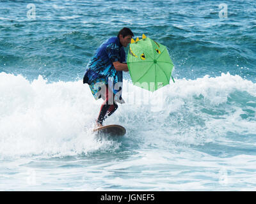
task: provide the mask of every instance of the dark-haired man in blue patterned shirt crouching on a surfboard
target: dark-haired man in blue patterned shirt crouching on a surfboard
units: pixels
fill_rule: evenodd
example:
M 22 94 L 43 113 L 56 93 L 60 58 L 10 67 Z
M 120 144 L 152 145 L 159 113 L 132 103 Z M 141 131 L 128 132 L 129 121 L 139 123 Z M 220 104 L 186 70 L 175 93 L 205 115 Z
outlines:
M 131 29 L 124 27 L 116 37 L 104 41 L 87 64 L 83 84 L 89 85 L 95 99 L 104 99 L 96 120 L 99 127 L 116 111 L 117 102 L 125 103 L 122 99 L 123 71 L 129 69 L 125 63 L 124 47 L 131 43 L 133 36 Z

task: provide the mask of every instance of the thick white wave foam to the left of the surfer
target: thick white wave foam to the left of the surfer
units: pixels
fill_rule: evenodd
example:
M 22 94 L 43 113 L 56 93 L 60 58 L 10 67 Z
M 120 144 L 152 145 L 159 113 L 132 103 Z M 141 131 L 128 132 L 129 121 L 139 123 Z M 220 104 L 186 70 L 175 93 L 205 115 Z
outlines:
M 47 84 L 41 76 L 29 82 L 6 73 L 0 78 L 1 156 L 65 156 L 112 147 L 92 134 L 99 106 L 81 81 Z

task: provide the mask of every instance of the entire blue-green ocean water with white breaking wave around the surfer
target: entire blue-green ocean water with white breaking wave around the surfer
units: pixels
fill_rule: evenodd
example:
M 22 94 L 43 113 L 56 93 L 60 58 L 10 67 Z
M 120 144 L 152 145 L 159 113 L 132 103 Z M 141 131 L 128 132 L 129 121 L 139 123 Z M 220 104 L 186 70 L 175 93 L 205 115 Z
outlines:
M 256 3 L 0 1 L 1 191 L 255 191 Z M 102 101 L 82 78 L 122 27 L 166 45 L 175 83 L 92 133 Z M 127 52 L 127 48 L 125 48 Z

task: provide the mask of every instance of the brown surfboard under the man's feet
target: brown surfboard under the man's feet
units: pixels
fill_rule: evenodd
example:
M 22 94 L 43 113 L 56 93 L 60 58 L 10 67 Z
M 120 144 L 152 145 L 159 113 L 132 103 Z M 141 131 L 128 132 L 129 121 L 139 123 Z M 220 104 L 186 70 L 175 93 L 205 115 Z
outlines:
M 119 125 L 109 125 L 109 126 L 102 126 L 99 128 L 93 129 L 93 132 L 103 133 L 104 135 L 111 135 L 111 136 L 123 136 L 126 133 L 126 130 L 123 126 Z

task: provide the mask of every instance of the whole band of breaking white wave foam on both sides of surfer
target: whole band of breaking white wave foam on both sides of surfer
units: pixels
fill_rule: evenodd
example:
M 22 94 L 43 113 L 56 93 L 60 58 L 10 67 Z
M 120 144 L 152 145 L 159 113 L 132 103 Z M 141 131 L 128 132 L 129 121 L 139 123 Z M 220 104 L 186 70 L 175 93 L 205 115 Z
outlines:
M 127 103 L 106 124 L 125 126 L 127 137 L 141 147 L 200 145 L 224 141 L 228 132 L 256 133 L 253 82 L 228 73 L 175 81 L 152 93 L 124 80 Z M 0 92 L 1 157 L 67 156 L 120 146 L 93 135 L 102 101 L 81 80 L 49 83 L 39 76 L 29 82 L 0 73 Z

